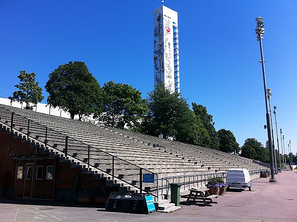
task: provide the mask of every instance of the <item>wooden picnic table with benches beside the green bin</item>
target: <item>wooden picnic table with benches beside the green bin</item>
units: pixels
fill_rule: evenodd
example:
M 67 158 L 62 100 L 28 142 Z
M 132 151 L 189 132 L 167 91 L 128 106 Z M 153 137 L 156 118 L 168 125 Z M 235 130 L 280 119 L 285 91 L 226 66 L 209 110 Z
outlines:
M 209 195 L 207 187 L 192 187 L 190 190 L 190 194 L 186 195 L 188 197 L 187 203 L 189 201 L 195 202 L 197 200 L 202 200 L 204 205 L 212 204 L 212 198 L 218 197 L 219 195 Z

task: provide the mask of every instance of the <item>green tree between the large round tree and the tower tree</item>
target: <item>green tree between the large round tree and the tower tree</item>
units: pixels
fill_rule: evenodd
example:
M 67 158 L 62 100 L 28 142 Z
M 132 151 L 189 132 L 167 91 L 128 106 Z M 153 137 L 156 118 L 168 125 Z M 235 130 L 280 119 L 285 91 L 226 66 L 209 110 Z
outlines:
M 103 111 L 98 120 L 101 124 L 124 129 L 138 125 L 138 121 L 148 111 L 141 92 L 130 85 L 114 83 L 112 80 L 102 87 Z

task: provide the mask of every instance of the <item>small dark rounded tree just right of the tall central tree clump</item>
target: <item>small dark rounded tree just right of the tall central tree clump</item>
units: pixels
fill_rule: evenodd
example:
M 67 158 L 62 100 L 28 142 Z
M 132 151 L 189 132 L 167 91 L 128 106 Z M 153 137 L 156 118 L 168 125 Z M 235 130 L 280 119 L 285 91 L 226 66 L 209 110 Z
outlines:
M 239 144 L 236 142 L 234 134 L 230 130 L 220 129 L 218 131 L 220 151 L 226 153 L 240 152 Z

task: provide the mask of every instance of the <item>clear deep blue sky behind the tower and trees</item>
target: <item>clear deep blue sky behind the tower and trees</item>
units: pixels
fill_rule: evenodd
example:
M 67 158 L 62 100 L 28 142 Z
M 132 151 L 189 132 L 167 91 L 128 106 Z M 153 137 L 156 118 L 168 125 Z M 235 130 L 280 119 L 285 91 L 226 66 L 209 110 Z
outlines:
M 160 0 L 0 0 L 0 97 L 16 90 L 20 70 L 35 72 L 44 88 L 59 64 L 80 60 L 101 86 L 110 80 L 130 84 L 146 98 L 153 89 L 152 12 L 159 5 Z M 247 138 L 267 140 L 254 33 L 255 18 L 264 17 L 271 106 L 277 106 L 285 147 L 291 140 L 296 154 L 296 1 L 165 0 L 164 5 L 178 12 L 182 96 L 190 106 L 205 106 L 216 130 L 231 130 L 240 145 Z M 273 117 L 276 131 L 274 122 Z

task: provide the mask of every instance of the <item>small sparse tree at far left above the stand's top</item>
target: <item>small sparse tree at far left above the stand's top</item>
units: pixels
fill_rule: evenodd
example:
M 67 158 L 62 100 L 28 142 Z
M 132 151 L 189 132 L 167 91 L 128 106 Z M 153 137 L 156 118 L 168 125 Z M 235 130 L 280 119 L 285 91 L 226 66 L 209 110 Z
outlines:
M 18 91 L 13 92 L 12 97 L 8 97 L 11 102 L 16 101 L 21 105 L 26 104 L 26 110 L 33 110 L 37 103 L 44 99 L 42 95 L 42 88 L 38 85 L 39 82 L 36 81 L 35 72 L 27 73 L 25 70 L 20 71 L 18 76 L 20 83 L 14 87 L 18 88 Z M 31 105 L 33 104 L 33 105 Z

